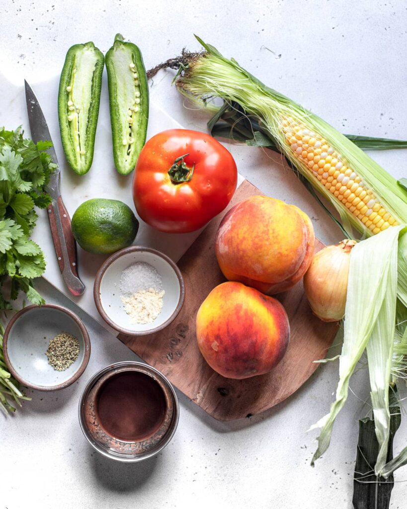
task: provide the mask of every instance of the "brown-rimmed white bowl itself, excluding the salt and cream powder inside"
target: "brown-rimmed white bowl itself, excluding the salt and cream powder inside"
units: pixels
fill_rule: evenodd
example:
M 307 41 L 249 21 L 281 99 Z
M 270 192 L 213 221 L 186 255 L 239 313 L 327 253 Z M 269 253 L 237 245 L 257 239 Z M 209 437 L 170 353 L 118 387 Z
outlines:
M 152 323 L 132 324 L 121 299 L 122 272 L 136 262 L 152 265 L 162 277 L 163 307 Z M 150 247 L 131 246 L 112 254 L 102 264 L 96 274 L 93 295 L 99 314 L 110 327 L 138 336 L 157 332 L 176 318 L 184 304 L 185 286 L 180 269 L 166 254 Z

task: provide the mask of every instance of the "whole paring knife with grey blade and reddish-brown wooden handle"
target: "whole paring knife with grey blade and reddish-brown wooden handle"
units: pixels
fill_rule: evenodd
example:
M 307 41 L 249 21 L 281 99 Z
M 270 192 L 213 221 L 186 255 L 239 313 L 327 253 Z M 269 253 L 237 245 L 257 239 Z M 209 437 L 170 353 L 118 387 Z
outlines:
M 31 138 L 34 143 L 46 139 L 52 141 L 38 99 L 25 79 L 24 84 Z M 48 152 L 56 164 L 56 169 L 45 189 L 52 199 L 47 208 L 52 241 L 62 278 L 71 294 L 78 296 L 84 292 L 85 287 L 78 275 L 76 241 L 72 235 L 71 219 L 61 197 L 61 168 L 58 164 L 54 147 L 52 146 L 48 149 Z

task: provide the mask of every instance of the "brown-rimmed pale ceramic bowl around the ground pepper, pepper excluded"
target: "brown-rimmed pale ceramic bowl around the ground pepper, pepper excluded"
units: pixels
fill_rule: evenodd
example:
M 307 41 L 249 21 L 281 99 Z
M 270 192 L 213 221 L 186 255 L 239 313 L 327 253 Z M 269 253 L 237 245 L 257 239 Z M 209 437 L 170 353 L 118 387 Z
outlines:
M 48 364 L 50 340 L 67 332 L 79 341 L 79 355 L 65 371 Z M 88 331 L 79 317 L 56 304 L 27 306 L 10 320 L 3 340 L 7 367 L 22 385 L 37 390 L 58 390 L 74 383 L 85 371 L 91 355 Z

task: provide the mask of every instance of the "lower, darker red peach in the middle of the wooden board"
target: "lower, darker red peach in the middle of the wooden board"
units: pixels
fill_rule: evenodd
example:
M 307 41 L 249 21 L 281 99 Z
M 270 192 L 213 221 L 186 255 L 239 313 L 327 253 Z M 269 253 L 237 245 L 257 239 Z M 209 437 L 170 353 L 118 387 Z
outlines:
M 196 337 L 203 357 L 220 375 L 237 379 L 263 375 L 287 350 L 288 317 L 273 297 L 227 281 L 200 305 Z

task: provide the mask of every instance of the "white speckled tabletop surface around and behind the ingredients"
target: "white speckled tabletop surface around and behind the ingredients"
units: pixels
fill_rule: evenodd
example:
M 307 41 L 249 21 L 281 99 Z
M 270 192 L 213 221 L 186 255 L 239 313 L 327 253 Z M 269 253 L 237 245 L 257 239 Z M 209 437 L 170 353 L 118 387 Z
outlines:
M 60 72 L 69 46 L 93 40 L 106 51 L 117 32 L 140 46 L 150 68 L 184 46 L 198 49 L 196 33 L 343 132 L 407 136 L 407 10 L 402 0 L 93 4 L 3 0 L 2 72 L 19 85 L 23 77 L 32 83 L 47 80 Z M 155 78 L 155 87 L 157 102 L 176 120 L 185 127 L 205 128 L 206 116 L 183 107 L 166 73 Z M 2 99 L 0 106 L 2 124 Z M 322 240 L 340 240 L 277 155 L 247 149 L 250 155 L 240 159 L 241 150 L 232 148 L 243 175 L 268 194 L 301 206 Z M 395 176 L 405 176 L 405 153 L 374 157 Z M 163 453 L 141 465 L 113 463 L 85 442 L 77 400 L 86 380 L 101 367 L 136 356 L 46 282 L 38 287 L 46 300 L 68 305 L 83 318 L 92 356 L 73 387 L 53 395 L 30 392 L 33 401 L 15 416 L 0 416 L 1 509 L 352 507 L 357 419 L 368 410 L 363 405 L 368 397 L 364 370 L 352 379 L 353 392 L 336 421 L 331 446 L 314 469 L 309 461 L 315 432 L 306 430 L 329 409 L 336 364 L 321 366 L 278 407 L 231 423 L 213 420 L 178 392 L 180 425 Z M 404 422 L 395 449 L 406 439 Z M 405 507 L 406 479 L 407 469 L 400 469 L 391 507 Z

